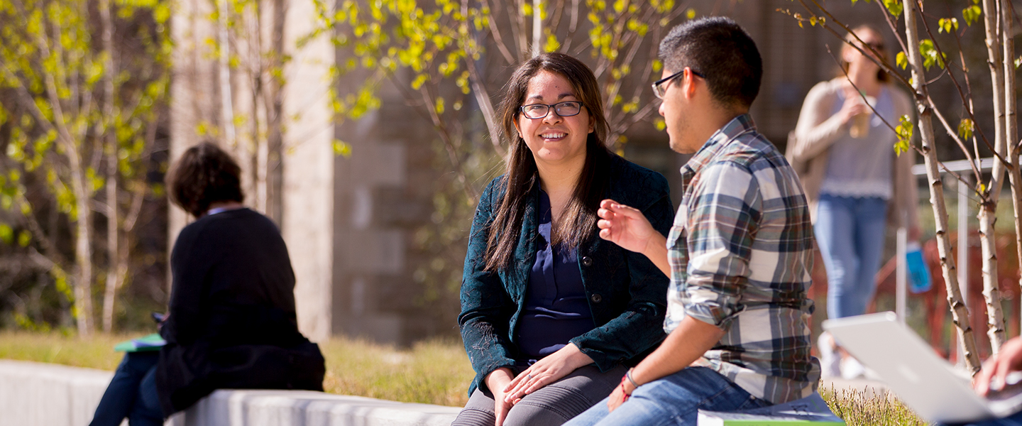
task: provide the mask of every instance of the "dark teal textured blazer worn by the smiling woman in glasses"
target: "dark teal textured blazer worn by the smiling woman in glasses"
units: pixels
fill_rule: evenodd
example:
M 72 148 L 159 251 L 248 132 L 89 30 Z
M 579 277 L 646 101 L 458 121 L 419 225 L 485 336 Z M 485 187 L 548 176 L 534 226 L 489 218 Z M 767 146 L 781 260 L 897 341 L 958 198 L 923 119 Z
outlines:
M 612 155 L 604 198 L 639 208 L 666 235 L 675 209 L 667 181 L 660 174 Z M 525 303 L 529 270 L 536 261 L 536 206 L 539 189 L 528 194 L 514 268 L 483 271 L 494 210 L 504 195 L 504 177 L 490 182 L 475 209 L 461 284 L 458 324 L 475 370 L 469 395 L 482 379 L 516 364 L 514 330 Z M 665 337 L 663 316 L 668 279 L 645 255 L 601 239 L 598 230 L 578 247 L 578 268 L 596 328 L 571 339 L 601 371 L 634 365 Z

